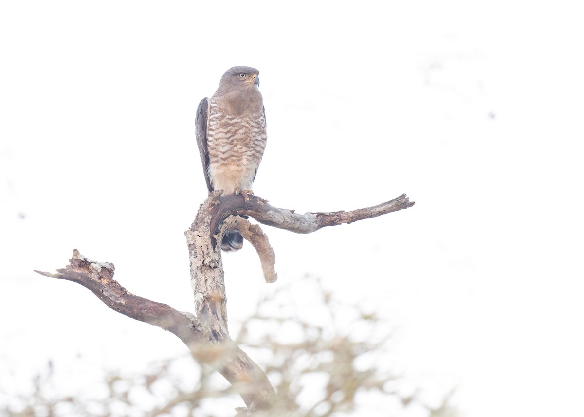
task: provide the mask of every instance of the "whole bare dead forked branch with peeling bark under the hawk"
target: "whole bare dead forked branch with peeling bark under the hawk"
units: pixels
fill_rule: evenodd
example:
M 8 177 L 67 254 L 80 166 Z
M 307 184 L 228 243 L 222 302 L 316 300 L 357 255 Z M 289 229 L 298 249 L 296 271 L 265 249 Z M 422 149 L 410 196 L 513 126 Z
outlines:
M 227 304 L 220 242 L 225 231 L 238 229 L 258 252 L 266 282 L 277 279 L 275 255 L 259 225 L 246 218 L 296 233 L 311 233 L 322 227 L 353 223 L 413 206 L 405 194 L 374 207 L 353 211 L 297 214 L 278 209 L 266 200 L 253 196 L 246 202 L 241 196 L 221 196 L 214 191 L 199 207 L 189 230 L 185 232 L 189 246 L 190 277 L 195 314 L 179 312 L 166 304 L 134 296 L 113 279 L 112 263 L 93 262 L 77 249 L 69 265 L 57 274 L 37 273 L 77 282 L 87 287 L 108 307 L 128 317 L 159 326 L 182 340 L 194 357 L 221 373 L 235 388 L 247 406 L 238 415 L 269 409 L 275 392 L 260 367 L 231 340 L 227 328 Z

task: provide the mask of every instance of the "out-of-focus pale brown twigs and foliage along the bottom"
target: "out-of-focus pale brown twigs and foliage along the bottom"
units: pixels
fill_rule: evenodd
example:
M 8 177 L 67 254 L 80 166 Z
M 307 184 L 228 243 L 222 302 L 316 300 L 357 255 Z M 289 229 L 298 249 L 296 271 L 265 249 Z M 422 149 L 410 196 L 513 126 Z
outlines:
M 449 406 L 452 391 L 428 404 L 420 395 L 425 387 L 391 371 L 387 322 L 361 305 L 335 300 L 318 280 L 280 287 L 232 326 L 239 327 L 235 341 L 276 388 L 276 405 L 266 416 L 458 416 Z M 30 392 L 0 404 L 0 415 L 223 417 L 234 415 L 226 413 L 225 402 L 242 405 L 223 378 L 190 356 L 151 364 L 143 374 L 108 373 L 96 385 L 89 393 L 60 395 L 49 363 Z M 239 408 L 238 415 L 248 414 Z

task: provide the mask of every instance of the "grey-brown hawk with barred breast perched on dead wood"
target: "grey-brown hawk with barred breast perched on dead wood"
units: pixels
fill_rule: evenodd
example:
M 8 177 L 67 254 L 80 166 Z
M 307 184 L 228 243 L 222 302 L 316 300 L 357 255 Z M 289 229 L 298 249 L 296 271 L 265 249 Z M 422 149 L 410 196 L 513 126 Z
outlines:
M 245 201 L 266 147 L 266 113 L 259 92 L 259 71 L 232 67 L 225 71 L 217 91 L 197 108 L 197 146 L 209 193 L 240 193 Z M 237 230 L 223 236 L 221 249 L 240 249 L 244 238 Z

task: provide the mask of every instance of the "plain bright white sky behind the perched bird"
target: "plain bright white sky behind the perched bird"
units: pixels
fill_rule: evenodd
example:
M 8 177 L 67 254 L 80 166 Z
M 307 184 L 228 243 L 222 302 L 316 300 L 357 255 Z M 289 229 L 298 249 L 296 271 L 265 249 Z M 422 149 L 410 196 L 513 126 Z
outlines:
M 184 352 L 32 269 L 78 248 L 192 310 L 194 113 L 250 65 L 256 194 L 301 213 L 416 201 L 311 235 L 265 227 L 273 285 L 310 273 L 381 311 L 399 366 L 454 381 L 466 416 L 583 415 L 581 17 L 576 1 L 2 2 L 0 389 L 50 357 L 76 380 Z M 269 288 L 249 245 L 224 265 L 237 322 Z

